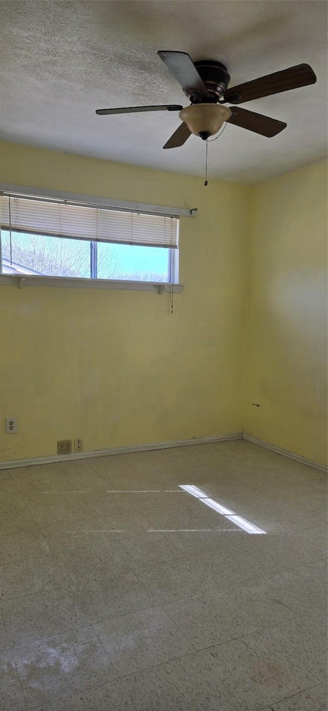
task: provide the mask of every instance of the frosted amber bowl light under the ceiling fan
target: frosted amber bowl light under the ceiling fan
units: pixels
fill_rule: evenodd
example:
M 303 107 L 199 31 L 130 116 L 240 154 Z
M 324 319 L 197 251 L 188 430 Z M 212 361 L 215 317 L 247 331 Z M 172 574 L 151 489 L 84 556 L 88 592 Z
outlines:
M 189 131 L 203 140 L 216 134 L 230 117 L 231 110 L 220 104 L 191 104 L 179 112 Z

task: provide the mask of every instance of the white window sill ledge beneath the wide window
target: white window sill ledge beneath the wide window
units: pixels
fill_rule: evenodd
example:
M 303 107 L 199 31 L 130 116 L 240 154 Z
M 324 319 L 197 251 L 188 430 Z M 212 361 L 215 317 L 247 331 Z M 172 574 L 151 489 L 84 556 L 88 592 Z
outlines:
M 0 284 L 23 287 L 63 287 L 66 289 L 121 289 L 127 292 L 157 292 L 164 294 L 173 288 L 174 294 L 181 294 L 184 284 L 166 282 L 130 282 L 120 279 L 75 279 L 75 277 L 31 277 L 25 274 L 0 274 Z

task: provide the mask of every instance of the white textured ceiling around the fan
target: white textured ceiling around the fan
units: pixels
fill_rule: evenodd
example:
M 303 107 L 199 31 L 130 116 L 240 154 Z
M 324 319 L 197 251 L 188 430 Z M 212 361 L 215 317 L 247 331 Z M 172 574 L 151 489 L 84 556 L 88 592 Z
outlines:
M 191 136 L 163 151 L 175 113 L 97 117 L 96 108 L 186 97 L 157 57 L 181 50 L 226 64 L 231 87 L 309 63 L 317 84 L 248 102 L 287 122 L 267 139 L 226 125 L 209 175 L 258 183 L 327 154 L 327 3 L 323 0 L 0 2 L 0 137 L 168 171 L 203 174 Z

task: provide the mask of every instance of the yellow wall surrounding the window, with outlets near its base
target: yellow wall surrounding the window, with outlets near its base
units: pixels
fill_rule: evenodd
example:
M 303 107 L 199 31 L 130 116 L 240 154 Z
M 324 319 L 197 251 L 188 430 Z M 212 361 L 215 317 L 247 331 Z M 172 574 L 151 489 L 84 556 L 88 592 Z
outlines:
M 4 141 L 0 181 L 199 208 L 173 315 L 167 295 L 0 287 L 1 460 L 240 432 L 251 188 Z

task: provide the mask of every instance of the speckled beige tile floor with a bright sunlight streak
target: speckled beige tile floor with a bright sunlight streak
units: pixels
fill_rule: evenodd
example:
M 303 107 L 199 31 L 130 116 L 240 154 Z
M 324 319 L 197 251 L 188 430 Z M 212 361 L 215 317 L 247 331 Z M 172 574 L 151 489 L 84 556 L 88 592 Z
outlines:
M 327 710 L 326 494 L 241 441 L 1 471 L 0 710 Z

